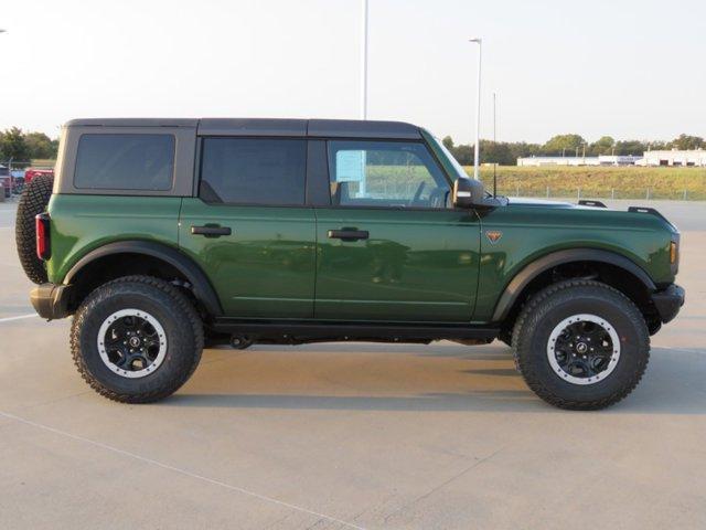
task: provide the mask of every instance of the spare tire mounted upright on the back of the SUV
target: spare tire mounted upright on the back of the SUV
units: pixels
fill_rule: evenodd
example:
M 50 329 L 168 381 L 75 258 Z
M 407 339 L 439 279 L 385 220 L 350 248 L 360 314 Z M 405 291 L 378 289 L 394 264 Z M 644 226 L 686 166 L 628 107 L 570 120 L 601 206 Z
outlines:
M 52 197 L 54 177 L 40 174 L 34 177 L 20 197 L 18 214 L 14 221 L 14 239 L 18 246 L 20 263 L 24 274 L 35 284 L 47 280 L 46 267 L 36 256 L 36 226 L 34 218 L 46 211 L 49 199 Z

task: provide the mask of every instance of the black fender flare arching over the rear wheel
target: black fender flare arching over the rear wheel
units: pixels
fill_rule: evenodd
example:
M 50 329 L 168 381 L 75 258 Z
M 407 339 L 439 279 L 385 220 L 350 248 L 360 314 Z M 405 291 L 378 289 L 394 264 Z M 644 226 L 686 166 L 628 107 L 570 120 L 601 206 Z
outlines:
M 64 284 L 72 284 L 81 271 L 92 262 L 111 254 L 145 254 L 161 259 L 178 269 L 193 287 L 196 299 L 212 317 L 223 316 L 221 301 L 211 282 L 194 261 L 176 248 L 150 241 L 118 241 L 90 251 L 71 267 Z

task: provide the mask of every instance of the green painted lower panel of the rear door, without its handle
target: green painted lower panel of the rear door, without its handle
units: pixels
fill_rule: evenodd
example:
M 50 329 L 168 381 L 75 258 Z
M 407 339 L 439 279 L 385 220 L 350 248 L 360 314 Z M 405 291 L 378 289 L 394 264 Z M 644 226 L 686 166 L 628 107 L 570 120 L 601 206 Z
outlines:
M 193 235 L 191 226 L 231 235 Z M 228 317 L 312 318 L 315 218 L 310 208 L 206 204 L 184 199 L 180 247 L 206 273 Z

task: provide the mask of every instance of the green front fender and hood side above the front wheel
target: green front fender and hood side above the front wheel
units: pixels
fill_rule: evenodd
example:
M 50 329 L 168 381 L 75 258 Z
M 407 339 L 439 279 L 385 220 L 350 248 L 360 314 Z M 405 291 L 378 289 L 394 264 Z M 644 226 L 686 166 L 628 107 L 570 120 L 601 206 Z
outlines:
M 511 204 L 481 214 L 481 269 L 473 319 L 489 320 L 512 278 L 554 251 L 598 248 L 642 267 L 655 284 L 671 283 L 670 241 L 674 233 L 659 218 L 561 203 Z M 496 243 L 486 233 L 502 232 Z

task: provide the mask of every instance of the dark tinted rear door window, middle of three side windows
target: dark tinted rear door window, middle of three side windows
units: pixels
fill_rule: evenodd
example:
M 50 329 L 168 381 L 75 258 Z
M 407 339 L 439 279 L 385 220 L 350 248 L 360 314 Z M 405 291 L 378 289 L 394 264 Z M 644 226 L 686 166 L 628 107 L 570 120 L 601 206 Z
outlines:
M 201 160 L 206 202 L 304 203 L 306 140 L 206 138 Z

